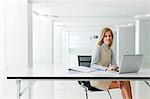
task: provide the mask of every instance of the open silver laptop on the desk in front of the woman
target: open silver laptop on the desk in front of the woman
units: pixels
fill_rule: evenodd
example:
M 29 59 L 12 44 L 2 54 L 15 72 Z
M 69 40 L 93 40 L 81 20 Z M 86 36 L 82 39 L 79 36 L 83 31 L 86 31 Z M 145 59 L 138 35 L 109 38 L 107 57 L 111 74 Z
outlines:
M 140 70 L 143 54 L 123 55 L 119 69 L 115 73 L 135 73 Z

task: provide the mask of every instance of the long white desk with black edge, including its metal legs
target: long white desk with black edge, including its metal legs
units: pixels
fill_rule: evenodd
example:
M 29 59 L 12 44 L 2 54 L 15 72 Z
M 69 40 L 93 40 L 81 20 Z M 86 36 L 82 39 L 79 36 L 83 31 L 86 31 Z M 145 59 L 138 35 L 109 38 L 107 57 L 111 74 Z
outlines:
M 18 69 L 18 68 L 17 68 Z M 36 68 L 37 69 L 37 68 Z M 59 72 L 52 73 L 49 69 L 45 68 L 42 70 L 40 68 L 39 72 L 30 69 L 22 69 L 23 71 L 12 70 L 8 72 L 7 79 L 15 79 L 17 81 L 17 99 L 21 98 L 21 95 L 26 89 L 31 92 L 31 87 L 33 81 L 37 80 L 138 80 L 145 81 L 145 83 L 150 87 L 148 81 L 150 80 L 150 69 L 141 69 L 138 73 L 127 73 L 127 74 L 113 74 L 106 71 L 94 71 L 90 73 L 81 72 Z M 28 80 L 28 86 L 21 91 L 21 81 Z M 31 99 L 31 97 L 29 97 Z

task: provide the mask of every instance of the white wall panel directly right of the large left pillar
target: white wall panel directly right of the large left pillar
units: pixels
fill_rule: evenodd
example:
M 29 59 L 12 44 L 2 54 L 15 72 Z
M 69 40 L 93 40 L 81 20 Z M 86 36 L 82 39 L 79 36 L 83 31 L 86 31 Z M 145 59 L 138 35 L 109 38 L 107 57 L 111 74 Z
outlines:
M 51 64 L 52 48 L 51 18 L 33 14 L 33 64 Z

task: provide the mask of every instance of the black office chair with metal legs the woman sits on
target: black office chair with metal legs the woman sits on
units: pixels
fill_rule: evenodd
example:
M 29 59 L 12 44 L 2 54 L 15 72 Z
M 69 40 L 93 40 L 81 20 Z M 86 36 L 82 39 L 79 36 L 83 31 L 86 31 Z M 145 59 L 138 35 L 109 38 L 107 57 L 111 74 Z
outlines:
M 79 66 L 90 67 L 91 56 L 78 55 L 78 64 L 79 64 Z M 90 81 L 78 81 L 78 83 L 81 85 L 81 87 L 84 88 L 85 94 L 86 94 L 86 99 L 88 99 L 88 91 L 91 91 L 91 92 L 104 91 L 104 90 L 100 90 L 100 89 L 97 89 L 95 87 L 92 87 L 90 84 Z M 110 96 L 110 99 L 112 99 L 111 94 L 108 90 L 107 90 L 107 93 Z

